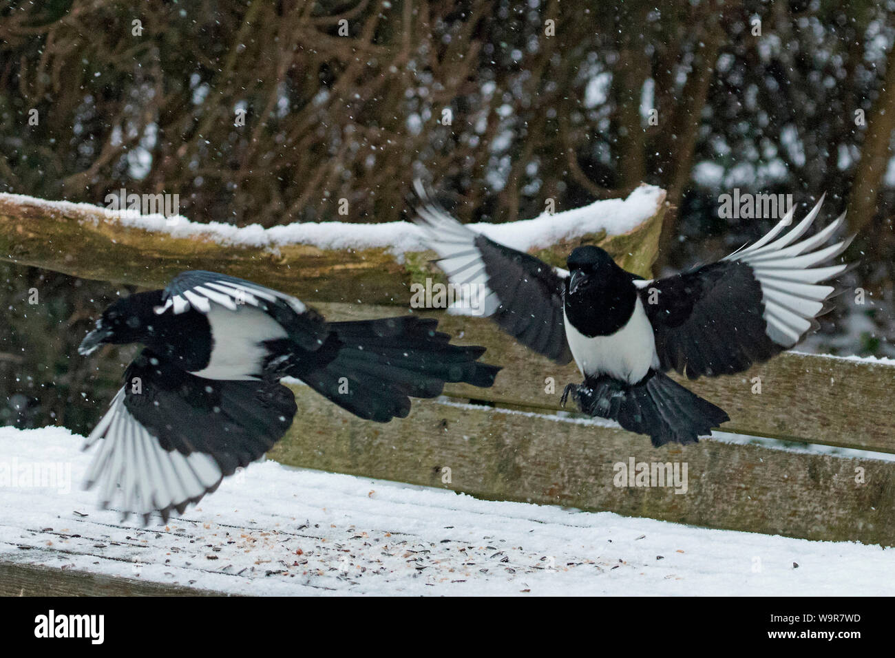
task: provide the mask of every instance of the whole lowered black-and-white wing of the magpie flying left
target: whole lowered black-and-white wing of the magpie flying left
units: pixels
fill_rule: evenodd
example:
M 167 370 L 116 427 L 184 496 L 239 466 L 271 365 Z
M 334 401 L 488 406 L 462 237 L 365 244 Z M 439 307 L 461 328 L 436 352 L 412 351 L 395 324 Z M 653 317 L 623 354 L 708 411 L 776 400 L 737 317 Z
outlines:
M 102 440 L 85 488 L 97 484 L 104 508 L 144 524 L 154 511 L 167 520 L 267 452 L 295 410 L 292 391 L 277 382 L 209 380 L 144 349 L 84 444 Z

